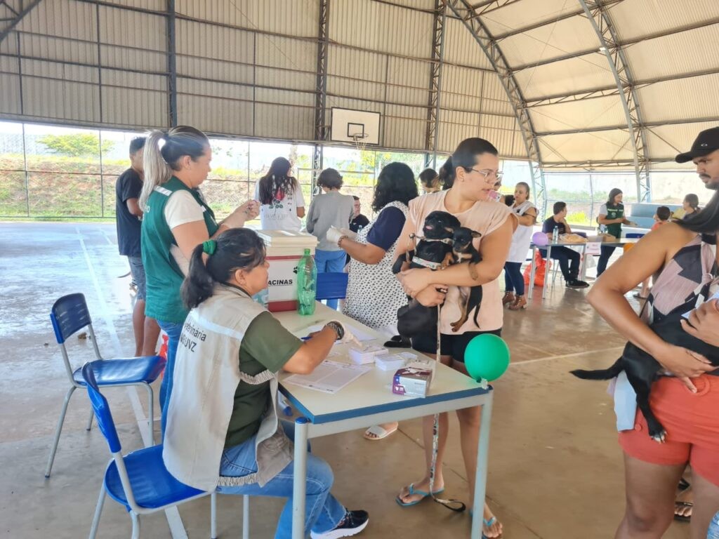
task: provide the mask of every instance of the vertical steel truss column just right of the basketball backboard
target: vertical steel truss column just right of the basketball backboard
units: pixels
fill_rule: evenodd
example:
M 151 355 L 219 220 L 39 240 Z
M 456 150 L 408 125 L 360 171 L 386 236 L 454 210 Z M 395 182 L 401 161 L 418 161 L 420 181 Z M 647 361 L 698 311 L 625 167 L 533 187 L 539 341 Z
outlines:
M 427 107 L 427 134 L 424 148 L 427 151 L 425 154 L 425 165 L 435 169 L 437 167 L 437 142 L 439 139 L 439 116 L 441 112 L 446 11 L 446 0 L 434 1 L 434 39 L 432 40 L 432 62 L 429 65 L 429 103 Z

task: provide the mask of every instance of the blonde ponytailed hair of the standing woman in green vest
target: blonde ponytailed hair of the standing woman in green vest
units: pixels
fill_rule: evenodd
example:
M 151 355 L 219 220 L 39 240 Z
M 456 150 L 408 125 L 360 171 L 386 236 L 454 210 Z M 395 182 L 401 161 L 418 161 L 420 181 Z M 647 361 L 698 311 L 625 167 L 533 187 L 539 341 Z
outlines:
M 145 179 L 139 195 L 139 207 L 147 211 L 147 199 L 158 185 L 173 177 L 173 170 L 180 170 L 178 161 L 189 155 L 193 161 L 205 153 L 210 141 L 207 135 L 191 126 L 173 127 L 167 133 L 152 131 L 145 142 L 142 167 Z

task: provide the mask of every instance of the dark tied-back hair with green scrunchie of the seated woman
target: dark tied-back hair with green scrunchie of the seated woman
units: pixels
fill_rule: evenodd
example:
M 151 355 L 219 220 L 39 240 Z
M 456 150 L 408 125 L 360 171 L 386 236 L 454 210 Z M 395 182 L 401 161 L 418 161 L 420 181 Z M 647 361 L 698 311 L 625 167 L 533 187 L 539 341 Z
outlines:
M 207 255 L 206 259 L 203 255 Z M 190 270 L 180 296 L 188 309 L 211 298 L 215 285 L 228 282 L 236 270 L 252 270 L 265 263 L 265 244 L 251 229 L 230 229 L 193 249 Z

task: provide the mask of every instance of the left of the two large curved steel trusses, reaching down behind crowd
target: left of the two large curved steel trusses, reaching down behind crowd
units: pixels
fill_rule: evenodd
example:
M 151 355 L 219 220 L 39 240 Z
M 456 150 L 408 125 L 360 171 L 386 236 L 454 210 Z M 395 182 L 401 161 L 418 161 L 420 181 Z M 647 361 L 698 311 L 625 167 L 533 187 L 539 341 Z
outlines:
M 508 2 L 495 1 L 494 4 L 496 6 L 502 6 L 508 4 Z M 535 193 L 536 204 L 539 206 L 539 215 L 544 216 L 544 208 L 546 207 L 546 190 L 544 188 L 544 172 L 542 171 L 541 152 L 539 151 L 539 142 L 536 137 L 531 117 L 529 116 L 526 101 L 522 95 L 519 85 L 514 78 L 512 70 L 500 50 L 497 41 L 489 32 L 484 22 L 482 22 L 482 18 L 480 17 L 481 13 L 478 13 L 477 10 L 472 7 L 471 2 L 467 0 L 448 0 L 447 5 L 449 6 L 449 9 L 452 9 L 454 14 L 459 17 L 459 19 L 462 19 L 464 26 L 469 29 L 472 33 L 472 37 L 475 38 L 477 43 L 482 48 L 482 52 L 485 53 L 487 60 L 490 61 L 495 73 L 497 73 L 497 76 L 502 83 L 502 87 L 512 104 L 529 160 L 532 188 Z M 486 11 L 486 9 L 490 7 L 490 4 L 485 2 L 481 4 L 481 6 L 485 8 L 483 11 Z

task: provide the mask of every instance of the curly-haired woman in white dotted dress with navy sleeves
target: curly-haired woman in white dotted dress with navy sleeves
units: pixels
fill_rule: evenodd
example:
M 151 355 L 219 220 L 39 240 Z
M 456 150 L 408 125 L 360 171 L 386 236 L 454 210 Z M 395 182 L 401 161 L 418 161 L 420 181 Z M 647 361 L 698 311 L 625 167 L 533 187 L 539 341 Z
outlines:
M 411 168 L 404 163 L 390 163 L 382 169 L 375 185 L 372 201 L 372 210 L 377 212 L 375 220 L 354 239 L 342 232 L 336 239 L 337 245 L 351 257 L 342 312 L 388 338 L 397 335 L 397 310 L 407 304 L 402 285 L 392 273 L 392 264 L 407 219 L 407 205 L 417 195 Z M 333 234 L 337 235 L 334 231 Z M 374 425 L 365 431 L 365 438 L 381 440 L 394 433 L 397 426 L 396 422 Z

